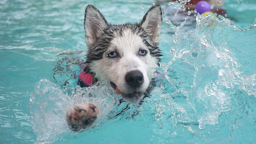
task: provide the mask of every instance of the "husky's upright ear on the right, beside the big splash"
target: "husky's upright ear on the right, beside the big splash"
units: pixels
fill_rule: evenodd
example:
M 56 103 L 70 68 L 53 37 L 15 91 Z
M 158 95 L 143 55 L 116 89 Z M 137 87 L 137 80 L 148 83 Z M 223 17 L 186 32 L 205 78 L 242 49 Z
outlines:
M 158 43 L 160 40 L 162 21 L 161 6 L 155 4 L 148 10 L 140 22 L 140 26 L 151 34 L 153 42 Z

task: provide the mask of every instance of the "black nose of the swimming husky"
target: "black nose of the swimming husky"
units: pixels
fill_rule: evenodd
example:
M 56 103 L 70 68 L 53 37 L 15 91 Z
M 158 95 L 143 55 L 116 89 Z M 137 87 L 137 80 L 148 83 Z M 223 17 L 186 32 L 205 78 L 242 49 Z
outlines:
M 125 75 L 125 81 L 133 88 L 139 87 L 144 79 L 143 74 L 140 71 L 131 71 Z

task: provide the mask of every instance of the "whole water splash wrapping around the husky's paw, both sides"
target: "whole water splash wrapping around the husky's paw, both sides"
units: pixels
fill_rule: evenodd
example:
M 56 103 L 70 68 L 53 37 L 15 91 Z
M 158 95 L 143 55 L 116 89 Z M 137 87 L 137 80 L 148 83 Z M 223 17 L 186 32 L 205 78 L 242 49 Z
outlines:
M 52 143 L 76 134 L 69 129 L 66 121 L 66 110 L 71 109 L 74 103 L 96 103 L 100 112 L 91 127 L 103 124 L 119 103 L 119 99 L 113 95 L 113 90 L 105 82 L 87 88 L 76 87 L 65 95 L 50 80 L 40 80 L 35 84 L 29 102 L 30 122 L 37 136 L 36 143 Z

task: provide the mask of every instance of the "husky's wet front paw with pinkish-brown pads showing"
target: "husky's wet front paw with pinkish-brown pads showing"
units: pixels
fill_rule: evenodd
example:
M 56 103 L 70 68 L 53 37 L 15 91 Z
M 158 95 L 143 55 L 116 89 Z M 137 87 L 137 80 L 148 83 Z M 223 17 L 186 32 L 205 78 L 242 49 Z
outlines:
M 97 119 L 99 108 L 92 103 L 74 104 L 73 109 L 67 110 L 67 122 L 73 131 L 79 131 L 92 125 Z

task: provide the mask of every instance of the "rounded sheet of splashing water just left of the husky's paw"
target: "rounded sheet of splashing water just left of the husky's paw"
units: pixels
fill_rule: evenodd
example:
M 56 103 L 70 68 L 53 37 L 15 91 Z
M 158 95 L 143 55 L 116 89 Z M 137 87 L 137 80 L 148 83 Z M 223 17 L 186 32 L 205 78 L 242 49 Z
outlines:
M 59 139 L 61 133 L 67 133 L 66 109 L 72 101 L 49 80 L 40 80 L 30 98 L 30 122 L 37 142 L 51 143 Z

